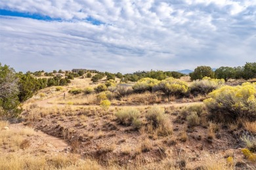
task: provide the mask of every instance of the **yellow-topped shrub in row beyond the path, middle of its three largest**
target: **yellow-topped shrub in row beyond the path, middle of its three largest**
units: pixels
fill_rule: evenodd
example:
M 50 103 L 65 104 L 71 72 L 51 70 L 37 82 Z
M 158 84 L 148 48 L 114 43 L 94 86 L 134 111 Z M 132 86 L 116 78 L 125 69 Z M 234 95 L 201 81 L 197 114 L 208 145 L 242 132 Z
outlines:
M 184 95 L 188 91 L 188 84 L 176 78 L 166 78 L 154 86 L 154 91 L 161 90 L 167 95 Z

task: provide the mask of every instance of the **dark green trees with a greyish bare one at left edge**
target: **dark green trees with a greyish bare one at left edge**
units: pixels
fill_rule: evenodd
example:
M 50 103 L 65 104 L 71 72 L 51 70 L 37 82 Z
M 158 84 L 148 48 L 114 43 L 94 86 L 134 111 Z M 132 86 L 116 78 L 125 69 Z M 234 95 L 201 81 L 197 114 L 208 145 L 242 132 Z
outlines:
M 38 73 L 38 72 L 37 72 Z M 16 73 L 8 65 L 0 63 L 0 118 L 17 116 L 20 103 L 33 96 L 38 90 L 49 86 L 65 86 L 70 80 L 60 75 L 50 78 L 35 78 L 32 73 Z

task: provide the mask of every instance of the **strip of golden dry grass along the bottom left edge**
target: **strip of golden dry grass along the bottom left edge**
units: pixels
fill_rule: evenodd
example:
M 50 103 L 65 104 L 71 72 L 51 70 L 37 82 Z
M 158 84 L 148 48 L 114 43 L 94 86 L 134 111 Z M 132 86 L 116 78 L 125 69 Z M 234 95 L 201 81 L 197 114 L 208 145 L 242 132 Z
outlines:
M 96 161 L 81 160 L 74 154 L 55 156 L 33 156 L 32 154 L 4 154 L 0 157 L 0 169 L 101 169 Z

